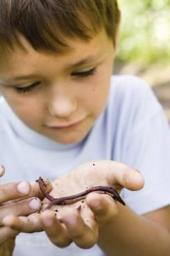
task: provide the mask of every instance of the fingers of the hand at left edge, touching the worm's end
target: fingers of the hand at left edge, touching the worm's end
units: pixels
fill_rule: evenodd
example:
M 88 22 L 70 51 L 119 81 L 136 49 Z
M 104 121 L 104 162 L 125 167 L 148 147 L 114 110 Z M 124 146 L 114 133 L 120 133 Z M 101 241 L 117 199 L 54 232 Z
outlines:
M 0 177 L 5 173 L 0 166 Z M 50 186 L 48 190 L 50 191 Z M 38 198 L 44 196 L 40 192 L 37 183 L 30 184 L 27 181 L 16 181 L 0 185 L 0 252 L 5 248 L 12 248 L 13 239 L 19 233 L 17 230 L 3 225 L 3 218 L 12 216 L 28 216 L 38 211 L 41 201 Z M 10 244 L 9 244 L 10 243 Z M 6 246 L 8 244 L 8 246 Z M 2 255 L 0 253 L 0 255 Z M 6 254 L 4 254 L 6 255 Z

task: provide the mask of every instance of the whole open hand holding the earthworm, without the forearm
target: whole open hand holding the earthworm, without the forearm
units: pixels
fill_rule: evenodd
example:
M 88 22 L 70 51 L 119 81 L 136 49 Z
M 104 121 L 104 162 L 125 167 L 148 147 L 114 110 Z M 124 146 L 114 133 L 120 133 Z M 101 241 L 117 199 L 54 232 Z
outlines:
M 53 197 L 63 197 L 83 192 L 91 186 L 112 186 L 139 190 L 144 179 L 137 170 L 110 160 L 99 160 L 79 165 L 73 171 L 53 182 Z M 44 199 L 44 204 L 49 203 Z M 22 232 L 44 229 L 52 243 L 59 247 L 74 241 L 80 248 L 94 246 L 99 237 L 100 226 L 108 224 L 118 214 L 117 202 L 99 193 L 90 193 L 86 199 L 74 204 L 52 206 L 41 214 L 6 219 L 6 225 Z M 44 205 L 45 207 L 45 205 Z M 28 225 L 28 218 L 29 223 Z M 42 225 L 42 227 L 40 227 Z

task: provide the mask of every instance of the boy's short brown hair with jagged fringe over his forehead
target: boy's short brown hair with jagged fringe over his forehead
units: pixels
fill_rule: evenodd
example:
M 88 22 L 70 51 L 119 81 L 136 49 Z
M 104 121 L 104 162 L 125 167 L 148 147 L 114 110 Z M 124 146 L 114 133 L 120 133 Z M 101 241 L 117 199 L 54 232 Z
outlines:
M 101 28 L 114 38 L 119 15 L 117 0 L 1 0 L 0 46 L 23 47 L 22 35 L 35 50 L 62 53 L 66 38 L 90 40 Z

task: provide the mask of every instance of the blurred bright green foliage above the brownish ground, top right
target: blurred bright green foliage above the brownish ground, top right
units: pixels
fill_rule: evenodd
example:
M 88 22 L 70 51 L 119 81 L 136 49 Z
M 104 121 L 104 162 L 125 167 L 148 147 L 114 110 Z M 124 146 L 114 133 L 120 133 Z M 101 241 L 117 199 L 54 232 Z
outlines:
M 121 61 L 170 61 L 170 0 L 118 0 Z

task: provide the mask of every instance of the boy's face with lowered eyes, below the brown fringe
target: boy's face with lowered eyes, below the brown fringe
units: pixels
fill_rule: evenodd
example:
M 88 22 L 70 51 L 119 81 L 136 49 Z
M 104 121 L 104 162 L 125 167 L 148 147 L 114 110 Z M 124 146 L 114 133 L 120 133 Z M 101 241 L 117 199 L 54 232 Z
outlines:
M 12 110 L 37 133 L 56 142 L 80 142 L 108 99 L 114 59 L 112 40 L 101 31 L 90 42 L 67 40 L 67 54 L 1 54 L 0 90 Z

